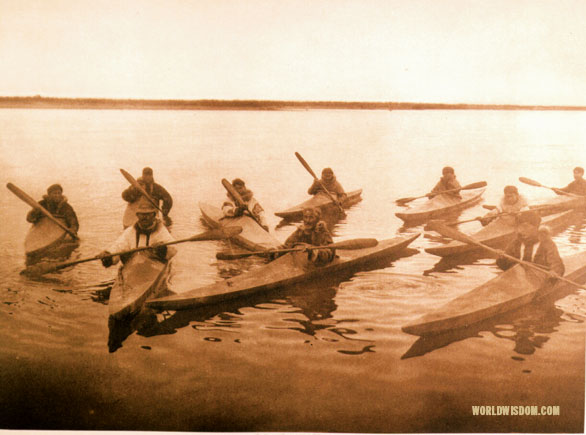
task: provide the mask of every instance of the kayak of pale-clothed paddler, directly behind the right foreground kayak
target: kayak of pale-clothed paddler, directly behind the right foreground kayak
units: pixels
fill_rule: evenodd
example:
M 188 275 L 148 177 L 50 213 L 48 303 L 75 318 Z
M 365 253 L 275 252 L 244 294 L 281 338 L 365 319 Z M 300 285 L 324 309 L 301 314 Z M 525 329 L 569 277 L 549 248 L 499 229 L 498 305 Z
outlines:
M 563 213 L 546 216 L 541 220 L 541 224 L 547 225 L 552 231 L 557 232 L 568 226 L 575 217 L 575 212 L 569 210 Z M 471 234 L 470 237 L 490 246 L 491 248 L 504 248 L 514 237 L 516 230 L 514 222 L 514 220 L 510 219 L 510 216 L 497 218 L 477 233 Z M 457 240 L 453 240 L 445 245 L 425 249 L 425 252 L 432 255 L 439 255 L 440 257 L 482 251 L 486 252 L 478 246 L 459 242 Z

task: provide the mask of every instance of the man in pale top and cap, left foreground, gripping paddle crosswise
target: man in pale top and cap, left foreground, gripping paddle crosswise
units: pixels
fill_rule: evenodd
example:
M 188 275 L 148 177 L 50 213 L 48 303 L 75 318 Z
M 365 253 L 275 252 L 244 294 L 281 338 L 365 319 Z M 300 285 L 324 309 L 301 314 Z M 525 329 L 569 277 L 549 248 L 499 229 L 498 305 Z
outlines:
M 161 246 L 163 243 L 175 240 L 167 227 L 157 219 L 157 209 L 146 199 L 141 198 L 136 210 L 138 221 L 126 228 L 118 239 L 99 256 L 104 267 L 110 267 L 112 264 L 126 263 L 132 254 L 121 255 L 120 257 L 109 257 L 113 252 L 128 251 L 141 246 L 152 246 L 155 257 L 160 261 L 170 260 L 177 250 L 172 246 Z

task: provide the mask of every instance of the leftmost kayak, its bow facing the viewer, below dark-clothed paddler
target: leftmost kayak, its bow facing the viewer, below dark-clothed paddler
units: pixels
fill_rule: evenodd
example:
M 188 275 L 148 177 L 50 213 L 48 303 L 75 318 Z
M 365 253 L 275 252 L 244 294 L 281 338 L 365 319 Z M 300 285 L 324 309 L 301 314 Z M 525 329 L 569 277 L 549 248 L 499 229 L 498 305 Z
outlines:
M 63 219 L 58 220 L 65 225 Z M 59 256 L 66 255 L 61 252 L 64 249 L 70 254 L 77 246 L 77 240 L 73 240 L 65 230 L 46 217 L 32 225 L 24 239 L 24 251 L 29 259 L 57 253 Z

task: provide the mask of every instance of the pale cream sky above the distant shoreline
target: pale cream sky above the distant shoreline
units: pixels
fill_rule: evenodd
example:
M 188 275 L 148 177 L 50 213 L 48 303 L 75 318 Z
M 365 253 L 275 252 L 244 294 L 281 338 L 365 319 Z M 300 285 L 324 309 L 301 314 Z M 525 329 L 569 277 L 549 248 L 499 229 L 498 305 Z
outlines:
M 0 95 L 586 106 L 583 0 L 0 0 Z

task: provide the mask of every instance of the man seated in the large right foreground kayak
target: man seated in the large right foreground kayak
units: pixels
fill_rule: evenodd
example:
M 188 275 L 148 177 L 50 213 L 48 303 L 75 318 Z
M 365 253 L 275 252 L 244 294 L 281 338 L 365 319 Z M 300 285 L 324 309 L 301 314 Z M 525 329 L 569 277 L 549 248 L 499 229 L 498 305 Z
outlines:
M 544 269 L 563 276 L 565 268 L 558 248 L 551 238 L 548 227 L 542 226 L 541 218 L 535 211 L 527 211 L 519 216 L 517 237 L 512 240 L 505 253 L 524 261 L 530 261 Z M 535 246 L 537 245 L 537 249 Z M 499 257 L 496 264 L 502 270 L 507 270 L 516 263 L 505 257 Z

